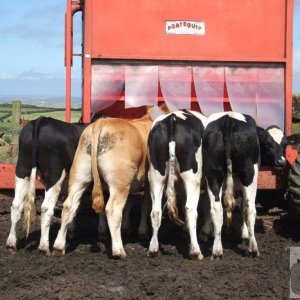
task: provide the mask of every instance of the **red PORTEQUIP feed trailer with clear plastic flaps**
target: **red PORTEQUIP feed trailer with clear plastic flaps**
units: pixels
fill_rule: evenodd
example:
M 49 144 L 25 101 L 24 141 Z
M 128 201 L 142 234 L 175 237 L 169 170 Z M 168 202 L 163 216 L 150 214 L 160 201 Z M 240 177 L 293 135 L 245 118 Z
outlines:
M 66 121 L 71 68 L 82 57 L 82 114 L 135 118 L 165 101 L 205 115 L 233 110 L 258 125 L 292 127 L 293 0 L 67 0 Z M 82 53 L 73 16 L 82 12 Z M 288 147 L 292 164 L 298 152 Z M 289 168 L 259 173 L 259 189 L 286 189 Z M 0 165 L 0 188 L 14 166 Z

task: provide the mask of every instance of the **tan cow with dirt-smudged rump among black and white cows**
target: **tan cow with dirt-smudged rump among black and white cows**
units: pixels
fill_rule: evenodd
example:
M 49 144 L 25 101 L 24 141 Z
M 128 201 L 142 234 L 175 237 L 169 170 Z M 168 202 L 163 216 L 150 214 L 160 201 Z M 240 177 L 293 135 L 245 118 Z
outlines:
M 156 107 L 157 109 L 157 107 Z M 80 198 L 94 180 L 93 208 L 104 209 L 103 187 L 109 191 L 105 213 L 112 240 L 112 255 L 126 257 L 121 239 L 122 212 L 129 194 L 144 186 L 147 139 L 155 109 L 135 120 L 105 118 L 82 133 L 70 171 L 69 194 L 62 211 L 61 228 L 54 250 L 65 252 L 67 226 L 75 216 Z M 160 114 L 168 112 L 160 106 Z

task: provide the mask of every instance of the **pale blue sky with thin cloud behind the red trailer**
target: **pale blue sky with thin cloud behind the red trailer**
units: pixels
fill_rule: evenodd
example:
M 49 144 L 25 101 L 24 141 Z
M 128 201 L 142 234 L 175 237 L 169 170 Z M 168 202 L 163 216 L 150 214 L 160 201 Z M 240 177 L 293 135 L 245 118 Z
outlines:
M 294 0 L 293 92 L 300 93 L 300 0 Z M 64 97 L 65 0 L 0 2 L 0 97 Z M 81 16 L 74 52 L 81 52 Z M 81 59 L 74 57 L 73 96 L 81 95 Z

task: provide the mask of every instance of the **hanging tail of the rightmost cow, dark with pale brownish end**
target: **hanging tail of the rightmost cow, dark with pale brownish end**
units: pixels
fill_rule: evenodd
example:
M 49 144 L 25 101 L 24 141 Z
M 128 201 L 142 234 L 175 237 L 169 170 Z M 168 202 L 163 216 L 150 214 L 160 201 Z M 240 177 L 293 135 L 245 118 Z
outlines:
M 231 160 L 231 142 L 230 142 L 230 132 L 231 129 L 229 128 L 229 122 L 227 122 L 227 128 L 224 134 L 224 146 L 225 146 L 225 159 L 226 159 L 226 186 L 224 192 L 224 204 L 226 210 L 226 217 L 227 217 L 227 225 L 232 220 L 232 210 L 236 205 L 236 201 L 234 198 L 234 182 L 233 182 L 233 175 L 232 175 L 232 160 Z

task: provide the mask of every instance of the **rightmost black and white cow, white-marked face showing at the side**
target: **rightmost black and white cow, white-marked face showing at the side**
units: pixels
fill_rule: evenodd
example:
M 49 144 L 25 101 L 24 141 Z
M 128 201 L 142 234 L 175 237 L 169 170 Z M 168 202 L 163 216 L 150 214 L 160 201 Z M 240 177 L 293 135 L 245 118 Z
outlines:
M 286 145 L 287 140 L 279 127 L 260 128 L 248 115 L 222 112 L 208 117 L 202 153 L 214 234 L 211 259 L 223 255 L 222 194 L 227 220 L 230 222 L 236 204 L 235 189 L 241 189 L 243 194 L 242 238 L 249 240 L 249 253 L 260 255 L 254 236 L 258 170 L 260 166 L 283 168 L 286 165 Z M 209 228 L 210 224 L 206 222 L 201 233 L 207 235 Z

